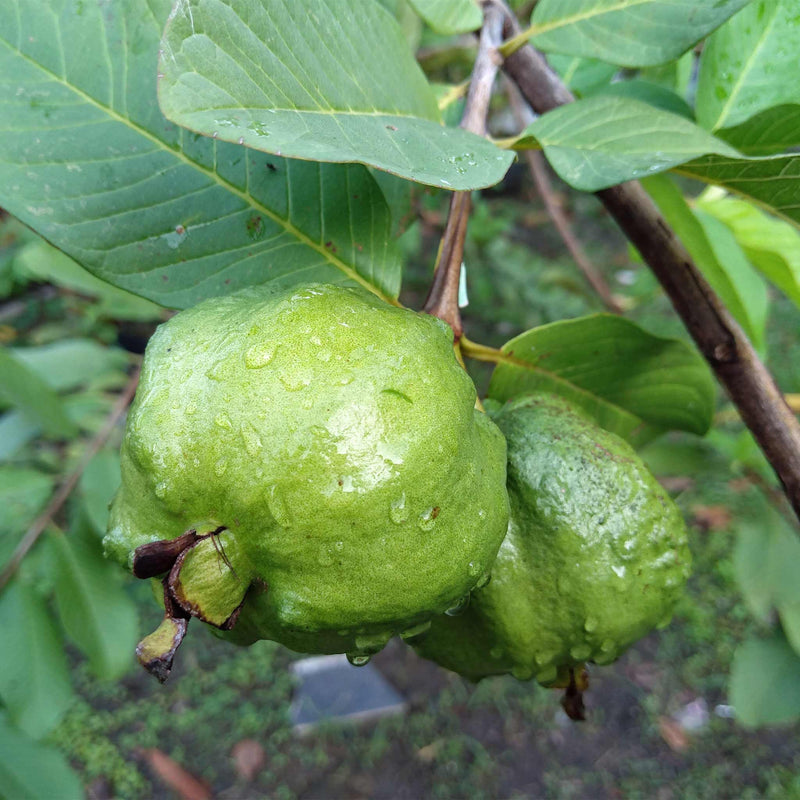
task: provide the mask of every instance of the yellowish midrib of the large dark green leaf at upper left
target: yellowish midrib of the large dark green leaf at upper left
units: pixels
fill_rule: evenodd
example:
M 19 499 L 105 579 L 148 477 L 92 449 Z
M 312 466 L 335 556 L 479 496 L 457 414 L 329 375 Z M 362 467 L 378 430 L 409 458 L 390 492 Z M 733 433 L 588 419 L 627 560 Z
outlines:
M 134 131 L 139 136 L 144 137 L 145 139 L 150 141 L 152 144 L 154 144 L 161 151 L 172 154 L 179 161 L 183 162 L 185 165 L 197 170 L 201 174 L 206 175 L 208 178 L 210 178 L 217 185 L 219 185 L 220 187 L 224 188 L 225 190 L 229 191 L 231 194 L 233 194 L 234 196 L 236 196 L 240 200 L 242 200 L 245 203 L 245 205 L 248 205 L 248 206 L 250 206 L 250 207 L 252 207 L 254 209 L 257 209 L 259 212 L 264 214 L 264 216 L 269 217 L 269 219 L 273 220 L 273 222 L 275 222 L 276 224 L 278 224 L 279 226 L 284 228 L 288 233 L 290 233 L 291 235 L 295 236 L 298 239 L 298 241 L 302 242 L 307 247 L 311 248 L 312 250 L 317 252 L 319 255 L 321 255 L 325 261 L 328 261 L 330 264 L 332 264 L 334 267 L 336 267 L 336 269 L 338 269 L 342 273 L 344 273 L 350 280 L 353 280 L 356 283 L 360 284 L 365 289 L 367 289 L 368 291 L 370 291 L 373 294 L 377 295 L 378 297 L 380 297 L 385 302 L 387 302 L 387 303 L 389 303 L 391 305 L 395 305 L 395 306 L 399 305 L 399 303 L 398 303 L 398 301 L 396 299 L 386 295 L 377 286 L 375 286 L 374 284 L 370 283 L 365 278 L 363 278 L 361 275 L 359 275 L 358 272 L 355 269 L 353 269 L 352 267 L 349 267 L 347 264 L 345 264 L 344 262 L 340 261 L 339 259 L 336 259 L 336 258 L 332 257 L 331 252 L 328 249 L 326 249 L 323 244 L 314 242 L 306 234 L 304 234 L 299 228 L 295 227 L 288 219 L 284 219 L 279 214 L 276 214 L 270 208 L 268 208 L 267 206 L 265 206 L 262 203 L 260 203 L 252 195 L 247 194 L 246 192 L 242 191 L 241 189 L 239 189 L 237 186 L 233 185 L 232 183 L 229 183 L 228 181 L 223 180 L 220 177 L 219 173 L 215 172 L 214 170 L 210 170 L 210 169 L 208 169 L 206 167 L 203 167 L 202 165 L 198 164 L 196 161 L 192 161 L 192 159 L 190 159 L 190 158 L 188 158 L 188 156 L 186 156 L 186 154 L 183 152 L 182 149 L 174 149 L 174 148 L 169 147 L 162 139 L 159 139 L 157 136 L 152 134 L 146 128 L 143 128 L 141 125 L 137 124 L 136 122 L 134 122 L 130 118 L 123 116 L 116 109 L 111 108 L 110 106 L 107 106 L 104 103 L 101 103 L 99 100 L 97 100 L 96 98 L 92 97 L 90 94 L 85 92 L 83 89 L 81 89 L 81 88 L 79 88 L 77 86 L 74 86 L 73 84 L 67 82 L 67 80 L 64 77 L 62 77 L 62 76 L 56 74 L 55 72 L 53 72 L 52 70 L 46 68 L 44 65 L 40 64 L 38 61 L 34 61 L 26 53 L 23 53 L 21 50 L 19 50 L 18 48 L 14 47 L 11 44 L 11 42 L 9 42 L 8 40 L 3 39 L 3 40 L 0 40 L 0 41 L 2 41 L 5 44 L 6 48 L 11 53 L 15 53 L 20 59 L 24 60 L 29 65 L 33 66 L 34 69 L 37 69 L 40 72 L 42 72 L 43 74 L 48 75 L 52 81 L 54 81 L 55 83 L 61 85 L 62 87 L 64 87 L 68 91 L 71 91 L 74 94 L 76 94 L 87 105 L 92 106 L 95 109 L 101 111 L 102 113 L 107 114 L 110 119 L 112 119 L 113 121 L 118 122 L 118 123 L 128 127 L 130 130 Z M 163 117 L 163 114 L 162 114 L 162 117 Z M 164 120 L 166 122 L 169 122 L 169 120 L 167 120 L 166 117 L 164 117 Z M 174 124 L 174 123 L 171 123 L 171 124 Z M 216 147 L 216 142 L 214 143 L 214 147 Z

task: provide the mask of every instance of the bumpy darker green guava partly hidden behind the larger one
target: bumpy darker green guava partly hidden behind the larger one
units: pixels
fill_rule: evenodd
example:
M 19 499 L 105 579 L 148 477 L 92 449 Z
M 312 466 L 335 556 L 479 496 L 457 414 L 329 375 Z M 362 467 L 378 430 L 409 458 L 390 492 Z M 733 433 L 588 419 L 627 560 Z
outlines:
M 689 574 L 675 503 L 620 437 L 553 395 L 493 415 L 508 445 L 508 533 L 491 581 L 412 642 L 471 679 L 570 686 L 668 623 Z

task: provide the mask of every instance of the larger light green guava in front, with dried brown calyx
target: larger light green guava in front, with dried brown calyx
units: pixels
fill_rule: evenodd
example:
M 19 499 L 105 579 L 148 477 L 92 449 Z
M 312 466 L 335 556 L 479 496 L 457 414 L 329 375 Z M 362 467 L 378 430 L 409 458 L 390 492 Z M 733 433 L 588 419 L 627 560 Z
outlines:
M 452 339 L 319 284 L 215 298 L 158 328 L 105 538 L 136 575 L 164 576 L 141 661 L 164 677 L 195 616 L 238 643 L 359 663 L 469 593 L 507 527 L 505 440 Z

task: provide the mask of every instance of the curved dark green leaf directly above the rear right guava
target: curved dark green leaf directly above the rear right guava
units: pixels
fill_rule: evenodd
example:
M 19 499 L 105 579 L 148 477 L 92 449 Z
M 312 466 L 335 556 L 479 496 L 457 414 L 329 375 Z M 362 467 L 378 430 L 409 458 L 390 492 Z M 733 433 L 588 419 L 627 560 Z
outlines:
M 703 434 L 711 424 L 714 382 L 688 345 L 647 333 L 626 319 L 595 314 L 533 328 L 503 346 L 489 396 L 505 402 L 548 391 L 635 443 L 656 432 Z

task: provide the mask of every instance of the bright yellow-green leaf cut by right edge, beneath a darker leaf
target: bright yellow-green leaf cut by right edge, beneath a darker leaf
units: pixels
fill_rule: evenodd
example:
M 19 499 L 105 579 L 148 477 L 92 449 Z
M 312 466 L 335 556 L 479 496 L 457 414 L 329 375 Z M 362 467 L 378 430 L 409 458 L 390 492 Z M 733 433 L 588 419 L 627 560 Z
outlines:
M 753 266 L 800 307 L 800 232 L 718 190 L 704 192 L 696 202 L 730 228 Z

